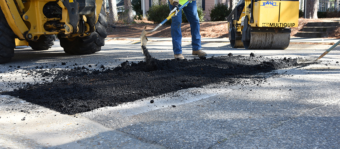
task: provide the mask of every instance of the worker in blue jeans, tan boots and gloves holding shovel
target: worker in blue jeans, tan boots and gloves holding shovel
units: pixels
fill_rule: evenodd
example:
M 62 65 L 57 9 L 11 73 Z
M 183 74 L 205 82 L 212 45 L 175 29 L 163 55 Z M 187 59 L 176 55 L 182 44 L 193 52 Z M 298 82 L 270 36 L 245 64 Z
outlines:
M 184 59 L 182 55 L 182 12 L 178 10 L 179 6 L 182 6 L 186 2 L 187 0 L 168 0 L 170 14 L 175 12 L 171 23 L 172 50 L 175 59 L 179 58 L 181 60 Z M 199 57 L 207 56 L 207 54 L 201 50 L 200 19 L 198 18 L 196 0 L 192 0 L 192 2 L 183 7 L 182 10 L 190 23 L 192 55 L 198 55 Z

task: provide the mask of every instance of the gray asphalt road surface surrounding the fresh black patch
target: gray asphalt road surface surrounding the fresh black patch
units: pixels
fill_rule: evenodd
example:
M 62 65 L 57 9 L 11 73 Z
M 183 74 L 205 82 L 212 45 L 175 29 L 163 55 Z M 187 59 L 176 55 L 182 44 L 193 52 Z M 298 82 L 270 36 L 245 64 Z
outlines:
M 286 50 L 229 46 L 205 42 L 202 50 L 208 57 L 253 52 L 295 58 L 319 56 L 331 45 L 291 44 Z M 148 42 L 147 47 L 157 59 L 173 58 L 169 41 Z M 195 58 L 190 42 L 183 42 L 183 49 L 186 58 Z M 0 92 L 50 79 L 31 77 L 31 69 L 114 68 L 126 60 L 143 60 L 140 44 L 130 40 L 107 40 L 102 51 L 91 55 L 68 55 L 58 41 L 48 51 L 21 47 L 15 52 L 11 62 L 0 64 Z M 339 55 L 337 47 L 321 63 L 260 74 L 267 79 L 259 85 L 220 82 L 76 115 L 2 95 L 0 148 L 340 148 Z

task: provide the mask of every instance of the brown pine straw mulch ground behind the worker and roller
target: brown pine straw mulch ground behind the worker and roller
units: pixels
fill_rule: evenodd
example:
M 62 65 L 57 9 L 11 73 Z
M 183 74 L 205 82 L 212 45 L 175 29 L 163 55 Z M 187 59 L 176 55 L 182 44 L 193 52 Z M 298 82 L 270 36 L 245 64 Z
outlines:
M 340 18 L 322 18 L 322 19 L 299 19 L 299 26 L 292 27 L 291 36 L 294 36 L 297 32 L 302 31 L 308 22 L 334 22 L 340 21 Z M 135 24 L 125 25 L 124 23 L 114 24 L 113 27 L 108 27 L 107 33 L 108 37 L 111 38 L 139 38 L 145 26 L 146 30 L 150 31 L 156 27 L 154 24 L 148 20 L 135 20 Z M 228 22 L 201 22 L 200 23 L 200 33 L 202 38 L 225 38 L 228 37 Z M 191 37 L 190 24 L 182 23 L 182 36 Z M 159 27 L 155 32 L 150 33 L 147 37 L 171 37 L 170 25 L 164 24 Z M 337 26 L 336 30 L 329 34 L 327 38 L 340 38 L 340 25 Z

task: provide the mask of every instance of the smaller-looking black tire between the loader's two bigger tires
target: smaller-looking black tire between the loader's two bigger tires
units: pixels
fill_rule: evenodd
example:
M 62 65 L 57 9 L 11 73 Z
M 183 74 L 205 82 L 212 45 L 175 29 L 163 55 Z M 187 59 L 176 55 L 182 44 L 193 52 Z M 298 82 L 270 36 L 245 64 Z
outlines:
M 41 35 L 37 41 L 28 41 L 28 45 L 35 51 L 47 50 L 54 45 L 55 35 Z

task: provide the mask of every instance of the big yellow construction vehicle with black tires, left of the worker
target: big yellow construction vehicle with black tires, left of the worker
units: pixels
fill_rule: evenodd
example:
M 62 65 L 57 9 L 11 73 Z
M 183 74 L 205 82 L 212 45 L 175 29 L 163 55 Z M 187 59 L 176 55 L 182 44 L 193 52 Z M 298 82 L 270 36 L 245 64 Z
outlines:
M 101 50 L 106 37 L 103 0 L 0 0 L 0 63 L 15 46 L 47 50 L 56 40 L 69 54 Z

